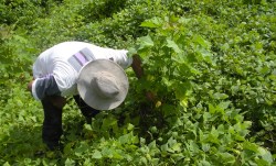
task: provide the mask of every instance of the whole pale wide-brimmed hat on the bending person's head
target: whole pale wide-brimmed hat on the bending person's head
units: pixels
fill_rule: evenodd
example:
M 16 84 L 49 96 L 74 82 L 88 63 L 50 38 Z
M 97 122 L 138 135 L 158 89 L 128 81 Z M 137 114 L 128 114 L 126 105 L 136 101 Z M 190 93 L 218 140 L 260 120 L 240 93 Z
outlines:
M 92 60 L 81 69 L 77 91 L 92 108 L 112 110 L 125 100 L 128 78 L 124 69 L 113 60 Z

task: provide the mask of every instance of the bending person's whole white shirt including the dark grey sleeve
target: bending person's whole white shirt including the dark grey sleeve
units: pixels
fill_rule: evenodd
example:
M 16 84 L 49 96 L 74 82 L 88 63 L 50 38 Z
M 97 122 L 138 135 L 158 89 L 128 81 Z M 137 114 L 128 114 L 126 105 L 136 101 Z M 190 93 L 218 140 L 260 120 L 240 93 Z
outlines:
M 46 95 L 77 95 L 76 79 L 79 70 L 70 58 L 81 49 L 87 48 L 93 59 L 112 59 L 123 68 L 131 65 L 132 58 L 125 49 L 104 48 L 85 42 L 64 42 L 44 51 L 33 65 L 32 95 L 40 100 Z

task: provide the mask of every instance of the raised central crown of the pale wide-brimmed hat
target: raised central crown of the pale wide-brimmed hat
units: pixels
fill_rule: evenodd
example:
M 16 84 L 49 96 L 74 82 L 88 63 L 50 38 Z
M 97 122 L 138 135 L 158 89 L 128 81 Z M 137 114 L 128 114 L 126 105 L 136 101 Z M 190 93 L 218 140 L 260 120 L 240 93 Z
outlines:
M 116 78 L 107 71 L 96 73 L 92 86 L 102 98 L 114 98 L 119 93 Z

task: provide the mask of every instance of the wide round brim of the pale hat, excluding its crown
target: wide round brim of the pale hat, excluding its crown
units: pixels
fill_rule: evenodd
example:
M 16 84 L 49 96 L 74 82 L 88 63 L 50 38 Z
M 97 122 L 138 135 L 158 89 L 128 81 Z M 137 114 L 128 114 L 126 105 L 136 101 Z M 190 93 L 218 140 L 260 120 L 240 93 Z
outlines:
M 110 73 L 118 84 L 119 93 L 115 98 L 103 98 L 95 91 L 91 82 L 95 74 L 99 71 Z M 96 59 L 87 63 L 79 71 L 77 78 L 77 91 L 86 104 L 96 110 L 112 110 L 117 108 L 128 92 L 128 78 L 125 70 L 109 59 Z

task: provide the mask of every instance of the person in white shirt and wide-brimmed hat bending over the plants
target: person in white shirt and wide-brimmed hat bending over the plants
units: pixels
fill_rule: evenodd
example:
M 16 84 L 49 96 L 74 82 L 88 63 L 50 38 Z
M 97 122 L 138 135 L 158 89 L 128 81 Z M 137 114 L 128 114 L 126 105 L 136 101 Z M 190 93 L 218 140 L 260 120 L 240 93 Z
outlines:
M 34 79 L 28 84 L 28 90 L 42 102 L 42 139 L 49 148 L 60 146 L 62 109 L 66 103 L 64 97 L 73 96 L 86 122 L 91 123 L 99 110 L 114 109 L 124 101 L 128 88 L 120 85 L 128 85 L 128 80 L 123 68 L 131 65 L 139 79 L 144 74 L 140 64 L 138 55 L 128 57 L 125 49 L 104 48 L 84 42 L 63 42 L 41 53 L 33 65 Z M 87 67 L 88 70 L 85 69 Z M 89 80 L 79 79 L 85 81 L 77 82 L 81 76 Z M 97 99 L 103 102 L 98 104 Z

